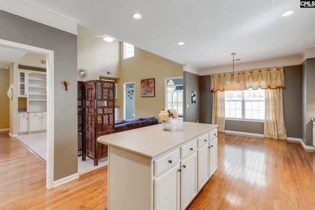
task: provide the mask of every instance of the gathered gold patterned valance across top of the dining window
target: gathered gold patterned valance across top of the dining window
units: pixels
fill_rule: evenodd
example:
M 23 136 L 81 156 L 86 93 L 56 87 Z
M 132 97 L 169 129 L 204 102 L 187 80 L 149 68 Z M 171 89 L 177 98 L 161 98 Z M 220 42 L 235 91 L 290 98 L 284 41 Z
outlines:
M 233 72 L 211 74 L 210 91 L 224 91 L 224 85 L 233 82 Z M 234 72 L 234 81 L 244 85 L 244 89 L 252 88 L 277 89 L 284 86 L 284 68 L 271 67 Z

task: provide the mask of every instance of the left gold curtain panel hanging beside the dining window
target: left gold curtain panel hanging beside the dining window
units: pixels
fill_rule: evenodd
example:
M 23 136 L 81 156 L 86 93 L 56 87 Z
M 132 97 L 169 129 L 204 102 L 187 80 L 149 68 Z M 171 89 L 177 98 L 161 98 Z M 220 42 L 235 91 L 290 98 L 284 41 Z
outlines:
M 224 130 L 225 130 L 224 91 L 216 91 L 213 93 L 212 124 L 218 125 L 218 131 L 219 132 L 224 132 Z

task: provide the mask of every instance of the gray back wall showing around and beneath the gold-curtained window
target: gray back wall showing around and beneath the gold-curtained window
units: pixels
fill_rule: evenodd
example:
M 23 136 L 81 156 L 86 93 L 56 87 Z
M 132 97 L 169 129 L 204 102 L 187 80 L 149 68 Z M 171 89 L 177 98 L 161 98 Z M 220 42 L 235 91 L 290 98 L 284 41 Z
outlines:
M 301 66 L 284 67 L 284 77 L 286 87 L 283 91 L 284 120 L 287 136 L 301 138 Z M 210 93 L 210 76 L 202 76 L 200 86 L 202 93 L 200 122 L 211 123 L 213 93 Z M 263 134 L 263 122 L 225 120 L 225 130 Z

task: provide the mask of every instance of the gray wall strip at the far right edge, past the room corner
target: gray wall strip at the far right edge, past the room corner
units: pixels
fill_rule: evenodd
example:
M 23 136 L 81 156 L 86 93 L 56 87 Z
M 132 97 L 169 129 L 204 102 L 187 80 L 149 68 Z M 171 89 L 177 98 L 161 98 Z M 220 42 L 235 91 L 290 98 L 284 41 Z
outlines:
M 302 63 L 302 140 L 313 146 L 313 122 L 315 117 L 315 58 Z

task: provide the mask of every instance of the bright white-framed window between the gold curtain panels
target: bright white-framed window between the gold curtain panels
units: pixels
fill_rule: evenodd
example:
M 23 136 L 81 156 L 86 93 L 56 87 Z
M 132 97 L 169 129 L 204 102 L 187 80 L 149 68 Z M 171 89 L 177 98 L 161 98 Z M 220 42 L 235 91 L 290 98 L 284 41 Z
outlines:
M 225 118 L 265 119 L 265 90 L 230 90 L 224 93 Z

